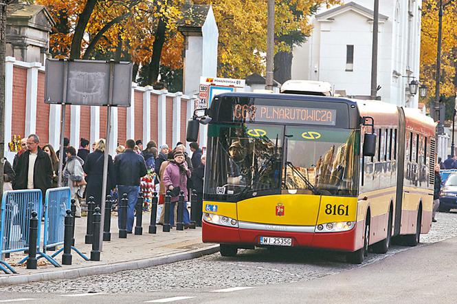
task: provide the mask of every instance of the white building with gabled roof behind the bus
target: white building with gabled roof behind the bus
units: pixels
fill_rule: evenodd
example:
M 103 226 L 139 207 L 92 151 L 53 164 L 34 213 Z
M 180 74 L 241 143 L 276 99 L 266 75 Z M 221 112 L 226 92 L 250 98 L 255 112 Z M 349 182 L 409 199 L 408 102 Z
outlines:
M 408 84 L 419 80 L 421 6 L 421 0 L 379 1 L 377 83 L 385 102 L 418 107 L 419 94 L 412 96 Z M 373 0 L 356 0 L 320 10 L 313 34 L 293 50 L 292 79 L 328 81 L 336 92 L 368 98 L 373 7 Z

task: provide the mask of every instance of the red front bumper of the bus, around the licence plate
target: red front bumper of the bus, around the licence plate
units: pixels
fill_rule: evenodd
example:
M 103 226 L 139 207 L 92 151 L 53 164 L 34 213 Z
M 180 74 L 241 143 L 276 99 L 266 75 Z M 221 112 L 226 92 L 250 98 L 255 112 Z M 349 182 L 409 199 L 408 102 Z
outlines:
M 260 246 L 260 237 L 289 237 L 293 247 L 322 248 L 353 252 L 357 235 L 363 235 L 363 223 L 356 223 L 351 230 L 344 232 L 284 232 L 232 228 L 203 221 L 203 243 L 227 243 L 240 246 Z M 359 233 L 361 230 L 361 233 Z

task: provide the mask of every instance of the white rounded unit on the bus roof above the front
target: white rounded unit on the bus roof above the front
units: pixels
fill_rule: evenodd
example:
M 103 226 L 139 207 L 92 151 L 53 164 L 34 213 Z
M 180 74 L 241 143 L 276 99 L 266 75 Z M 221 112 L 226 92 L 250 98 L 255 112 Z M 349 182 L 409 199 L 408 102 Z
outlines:
M 326 81 L 287 80 L 282 84 L 280 93 L 333 96 L 333 86 Z

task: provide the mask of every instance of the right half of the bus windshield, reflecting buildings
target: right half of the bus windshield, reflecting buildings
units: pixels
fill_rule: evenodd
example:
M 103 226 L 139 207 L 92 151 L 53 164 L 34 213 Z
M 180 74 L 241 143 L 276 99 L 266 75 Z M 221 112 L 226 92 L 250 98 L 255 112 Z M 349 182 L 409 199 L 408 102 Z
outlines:
M 359 133 L 350 129 L 286 127 L 286 193 L 357 195 Z

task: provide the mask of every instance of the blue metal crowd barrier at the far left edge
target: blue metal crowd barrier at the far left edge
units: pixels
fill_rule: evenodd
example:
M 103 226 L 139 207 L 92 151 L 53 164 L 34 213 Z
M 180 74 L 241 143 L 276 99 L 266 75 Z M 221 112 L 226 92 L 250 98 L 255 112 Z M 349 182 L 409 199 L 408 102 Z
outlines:
M 29 249 L 29 228 L 32 211 L 41 218 L 43 214 L 43 199 L 40 190 L 6 191 L 3 193 L 0 208 L 0 270 L 16 273 L 3 261 L 3 254 Z M 38 226 L 37 250 L 40 247 L 40 230 Z M 8 270 L 3 267 L 8 268 Z

